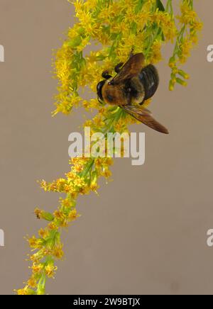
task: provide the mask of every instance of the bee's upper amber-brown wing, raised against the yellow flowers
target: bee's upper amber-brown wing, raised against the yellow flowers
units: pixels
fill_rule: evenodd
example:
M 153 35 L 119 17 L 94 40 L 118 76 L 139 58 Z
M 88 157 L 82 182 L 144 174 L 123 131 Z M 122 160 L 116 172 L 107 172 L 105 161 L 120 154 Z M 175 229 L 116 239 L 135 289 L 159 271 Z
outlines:
M 122 67 L 121 72 L 114 77 L 113 82 L 119 84 L 124 79 L 131 79 L 133 76 L 139 74 L 143 69 L 144 56 L 142 52 L 131 56 L 129 60 Z

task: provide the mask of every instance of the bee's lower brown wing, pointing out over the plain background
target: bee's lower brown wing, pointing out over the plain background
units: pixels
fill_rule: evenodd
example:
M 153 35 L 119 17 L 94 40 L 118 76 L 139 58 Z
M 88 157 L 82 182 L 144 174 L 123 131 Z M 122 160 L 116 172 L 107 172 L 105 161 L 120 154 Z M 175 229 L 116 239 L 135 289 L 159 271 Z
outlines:
M 141 123 L 148 125 L 148 127 L 152 128 L 153 130 L 168 134 L 167 128 L 158 123 L 158 121 L 156 121 L 151 115 L 151 112 L 146 108 L 138 108 L 137 106 L 131 105 L 121 106 L 121 108 L 124 108 L 126 113 L 129 113 L 131 116 L 133 116 L 133 118 L 136 118 L 138 121 L 141 121 Z

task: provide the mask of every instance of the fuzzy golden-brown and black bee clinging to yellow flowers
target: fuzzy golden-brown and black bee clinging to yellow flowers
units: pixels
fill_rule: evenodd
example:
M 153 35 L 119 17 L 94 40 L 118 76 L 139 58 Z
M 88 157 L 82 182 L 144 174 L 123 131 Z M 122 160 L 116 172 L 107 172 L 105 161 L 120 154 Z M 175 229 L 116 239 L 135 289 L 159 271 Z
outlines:
M 145 67 L 144 60 L 143 53 L 131 55 L 126 64 L 116 65 L 115 77 L 108 71 L 103 72 L 104 80 L 97 84 L 97 96 L 100 102 L 119 106 L 153 130 L 168 134 L 167 128 L 153 118 L 151 111 L 143 108 L 144 101 L 155 94 L 159 85 L 157 69 L 152 64 Z

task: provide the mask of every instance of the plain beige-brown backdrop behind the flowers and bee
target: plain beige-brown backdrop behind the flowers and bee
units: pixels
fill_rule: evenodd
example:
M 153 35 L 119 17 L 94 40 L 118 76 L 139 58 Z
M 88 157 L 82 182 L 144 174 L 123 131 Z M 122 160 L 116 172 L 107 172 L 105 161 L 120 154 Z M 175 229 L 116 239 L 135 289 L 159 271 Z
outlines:
M 206 60 L 212 44 L 212 1 L 195 1 L 204 21 L 199 47 L 187 72 L 189 86 L 168 91 L 170 69 L 158 65 L 161 84 L 151 109 L 169 136 L 145 126 L 146 164 L 114 164 L 114 182 L 100 196 L 80 198 L 82 214 L 64 233 L 65 261 L 59 262 L 50 294 L 170 294 L 213 292 L 212 82 Z M 44 193 L 37 179 L 53 180 L 68 169 L 68 135 L 83 116 L 51 118 L 55 80 L 51 49 L 72 25 L 66 0 L 0 0 L 1 208 L 0 293 L 11 294 L 28 278 L 26 234 L 43 222 L 35 206 L 54 210 L 58 194 Z M 168 50 L 165 50 L 168 55 Z

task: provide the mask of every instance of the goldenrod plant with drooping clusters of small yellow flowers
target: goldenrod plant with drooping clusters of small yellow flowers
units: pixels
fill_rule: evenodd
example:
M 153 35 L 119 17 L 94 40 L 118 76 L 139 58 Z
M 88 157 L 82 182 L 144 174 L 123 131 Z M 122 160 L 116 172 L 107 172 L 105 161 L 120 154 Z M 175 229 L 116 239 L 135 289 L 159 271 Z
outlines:
M 190 51 L 198 40 L 202 23 L 194 10 L 193 0 L 180 1 L 177 13 L 173 2 L 168 0 L 76 0 L 76 23 L 67 30 L 67 38 L 62 47 L 55 52 L 54 70 L 57 77 L 58 94 L 55 96 L 54 115 L 68 115 L 73 107 L 84 106 L 87 111 L 97 111 L 92 120 L 84 126 L 91 128 L 91 134 L 102 132 L 128 133 L 131 123 L 137 121 L 128 116 L 118 106 L 100 104 L 96 87 L 102 80 L 102 72 L 109 70 L 113 74 L 119 62 L 126 62 L 131 51 L 143 52 L 146 64 L 155 64 L 162 60 L 161 47 L 173 43 L 174 52 L 168 60 L 171 68 L 169 89 L 175 84 L 185 86 L 189 75 L 180 69 L 190 56 Z M 95 51 L 87 53 L 85 47 L 97 44 Z M 99 50 L 97 48 L 99 47 Z M 91 48 L 92 49 L 92 48 Z M 84 88 L 90 89 L 94 99 L 80 96 Z M 145 102 L 148 106 L 150 100 Z M 39 219 L 48 225 L 38 231 L 38 236 L 28 238 L 32 248 L 29 257 L 31 276 L 18 295 L 44 295 L 46 281 L 54 278 L 56 263 L 64 257 L 61 242 L 62 231 L 80 215 L 77 213 L 77 197 L 97 192 L 99 178 L 109 179 L 113 159 L 109 157 L 82 157 L 70 160 L 70 172 L 53 182 L 40 181 L 45 191 L 66 193 L 60 198 L 58 209 L 54 213 L 35 209 Z

